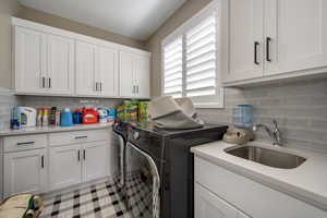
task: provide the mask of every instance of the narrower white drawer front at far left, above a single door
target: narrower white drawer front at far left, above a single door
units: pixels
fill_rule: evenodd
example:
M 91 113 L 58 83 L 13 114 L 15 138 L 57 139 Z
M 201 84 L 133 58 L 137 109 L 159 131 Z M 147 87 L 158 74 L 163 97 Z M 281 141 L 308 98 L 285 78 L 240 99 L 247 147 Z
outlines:
M 28 150 L 47 147 L 47 135 L 24 135 L 3 138 L 4 153 Z

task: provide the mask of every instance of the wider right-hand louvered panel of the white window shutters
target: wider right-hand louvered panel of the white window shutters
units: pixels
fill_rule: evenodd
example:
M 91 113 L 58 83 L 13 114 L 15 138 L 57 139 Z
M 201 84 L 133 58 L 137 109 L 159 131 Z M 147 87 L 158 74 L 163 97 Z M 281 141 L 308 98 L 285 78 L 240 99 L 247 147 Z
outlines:
M 217 90 L 216 15 L 186 33 L 186 96 L 211 96 Z

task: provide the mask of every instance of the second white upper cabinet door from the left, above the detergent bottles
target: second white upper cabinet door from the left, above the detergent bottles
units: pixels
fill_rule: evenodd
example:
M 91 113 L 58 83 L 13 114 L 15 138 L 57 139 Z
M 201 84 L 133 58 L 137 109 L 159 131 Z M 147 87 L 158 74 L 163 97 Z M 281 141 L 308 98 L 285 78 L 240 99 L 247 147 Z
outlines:
M 51 94 L 73 94 L 74 61 L 74 40 L 48 35 L 47 85 Z

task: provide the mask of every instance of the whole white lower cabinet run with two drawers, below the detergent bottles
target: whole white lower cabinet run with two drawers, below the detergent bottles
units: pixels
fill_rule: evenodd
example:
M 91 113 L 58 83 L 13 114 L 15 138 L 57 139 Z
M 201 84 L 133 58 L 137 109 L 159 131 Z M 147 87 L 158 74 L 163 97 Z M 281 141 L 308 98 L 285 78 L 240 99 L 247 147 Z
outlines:
M 0 199 L 109 177 L 109 148 L 106 129 L 0 138 Z

